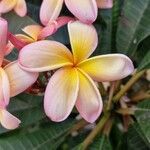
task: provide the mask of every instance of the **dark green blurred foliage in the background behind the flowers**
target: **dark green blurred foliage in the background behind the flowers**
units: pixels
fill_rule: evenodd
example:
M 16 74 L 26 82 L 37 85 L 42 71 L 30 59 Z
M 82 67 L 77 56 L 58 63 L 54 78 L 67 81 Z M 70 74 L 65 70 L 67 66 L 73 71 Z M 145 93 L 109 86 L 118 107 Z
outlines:
M 26 25 L 40 24 L 38 14 L 41 0 L 27 0 L 27 2 L 28 16 L 20 18 L 13 12 L 4 15 L 9 22 L 9 30 L 15 34 L 21 33 L 21 29 Z M 66 11 L 66 7 L 61 13 L 71 15 Z M 115 0 L 112 9 L 99 10 L 94 26 L 99 37 L 99 45 L 94 55 L 125 53 L 134 61 L 138 71 L 150 68 L 150 0 Z M 66 26 L 49 38 L 70 45 Z M 14 60 L 17 56 L 17 51 L 13 51 L 8 58 Z M 144 75 L 140 82 L 143 80 L 148 83 Z M 128 79 L 125 79 L 123 83 L 127 81 Z M 127 96 L 145 90 L 140 86 L 140 82 L 137 83 L 139 86 L 136 84 L 127 93 Z M 146 84 L 147 90 L 149 87 Z M 106 98 L 107 96 L 103 97 L 104 100 Z M 114 104 L 111 110 L 113 125 L 110 134 L 99 133 L 98 137 L 91 141 L 92 144 L 88 149 L 150 149 L 150 99 L 143 98 L 139 102 L 132 101 L 132 97 L 129 98 L 131 102 L 127 102 L 126 105 L 133 109 L 134 113 L 118 114 L 116 109 L 120 108 L 120 104 Z M 22 124 L 14 131 L 0 128 L 0 150 L 82 149 L 82 142 L 95 125 L 83 126 L 79 131 L 74 131 L 74 126 L 78 122 L 74 119 L 76 112 L 62 123 L 53 123 L 45 116 L 42 105 L 43 96 L 24 93 L 12 98 L 8 109 L 21 119 Z M 128 112 L 127 110 L 126 113 Z M 125 130 L 128 122 L 129 125 Z

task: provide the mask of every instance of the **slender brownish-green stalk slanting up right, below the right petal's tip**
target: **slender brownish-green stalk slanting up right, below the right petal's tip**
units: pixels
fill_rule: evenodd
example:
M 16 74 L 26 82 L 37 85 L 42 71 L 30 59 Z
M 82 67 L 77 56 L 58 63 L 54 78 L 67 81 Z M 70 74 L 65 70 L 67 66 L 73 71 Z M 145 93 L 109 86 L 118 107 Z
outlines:
M 145 70 L 137 72 L 133 77 L 127 82 L 127 84 L 114 96 L 113 101 L 116 103 L 120 98 L 133 86 L 133 84 L 143 76 Z

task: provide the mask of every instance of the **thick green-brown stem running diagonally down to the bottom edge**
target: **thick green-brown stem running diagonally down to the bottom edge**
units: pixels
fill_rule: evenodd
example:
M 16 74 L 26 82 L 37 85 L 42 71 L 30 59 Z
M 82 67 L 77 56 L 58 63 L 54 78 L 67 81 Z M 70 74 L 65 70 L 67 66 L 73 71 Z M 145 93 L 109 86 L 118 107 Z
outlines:
M 95 129 L 88 135 L 88 137 L 82 143 L 82 149 L 85 150 L 93 141 L 93 139 L 100 133 L 103 129 L 105 123 L 110 117 L 110 113 L 106 112 L 104 116 L 101 118 L 99 123 L 96 125 Z

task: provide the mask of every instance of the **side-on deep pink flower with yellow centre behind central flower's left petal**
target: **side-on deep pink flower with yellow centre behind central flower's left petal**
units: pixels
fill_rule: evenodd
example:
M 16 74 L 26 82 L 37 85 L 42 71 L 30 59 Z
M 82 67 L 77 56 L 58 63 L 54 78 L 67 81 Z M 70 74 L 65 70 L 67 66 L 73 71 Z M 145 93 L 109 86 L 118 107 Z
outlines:
M 73 20 L 75 19 L 72 17 L 62 16 L 58 17 L 56 21 L 52 21 L 45 27 L 41 25 L 28 25 L 22 29 L 25 34 L 13 35 L 12 33 L 9 33 L 9 41 L 5 47 L 6 55 L 8 55 L 14 47 L 20 50 L 29 43 L 40 41 L 53 35 L 59 28 Z

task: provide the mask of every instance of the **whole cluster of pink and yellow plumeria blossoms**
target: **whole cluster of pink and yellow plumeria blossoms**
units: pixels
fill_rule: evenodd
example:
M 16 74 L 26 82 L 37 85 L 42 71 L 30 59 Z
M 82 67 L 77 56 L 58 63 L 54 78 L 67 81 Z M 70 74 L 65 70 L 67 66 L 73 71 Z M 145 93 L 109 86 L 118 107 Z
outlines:
M 59 17 L 63 2 L 74 17 Z M 55 71 L 45 90 L 44 110 L 52 121 L 65 120 L 74 106 L 88 122 L 100 116 L 103 102 L 95 82 L 120 80 L 134 70 L 132 61 L 123 54 L 89 58 L 98 44 L 92 25 L 98 8 L 111 8 L 112 3 L 112 0 L 43 0 L 40 9 L 43 26 L 26 26 L 23 29 L 26 35 L 9 33 L 7 22 L 0 19 L 0 122 L 5 128 L 14 129 L 20 123 L 6 111 L 9 98 L 30 87 L 40 72 L 51 70 Z M 1 0 L 1 14 L 12 9 L 24 16 L 25 1 Z M 45 40 L 66 24 L 71 50 L 60 42 Z M 19 50 L 18 60 L 3 67 L 4 56 L 14 47 Z

